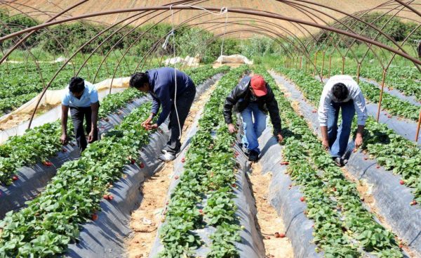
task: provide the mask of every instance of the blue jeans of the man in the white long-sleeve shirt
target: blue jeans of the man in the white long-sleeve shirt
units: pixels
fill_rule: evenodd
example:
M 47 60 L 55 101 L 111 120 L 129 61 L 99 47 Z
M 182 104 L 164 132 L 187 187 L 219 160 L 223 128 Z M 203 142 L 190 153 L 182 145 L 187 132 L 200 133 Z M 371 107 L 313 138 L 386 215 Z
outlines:
M 339 110 L 342 109 L 342 123 L 338 128 Z M 355 115 L 354 101 L 331 102 L 328 110 L 328 137 L 332 157 L 342 157 L 347 150 L 351 134 L 352 119 Z

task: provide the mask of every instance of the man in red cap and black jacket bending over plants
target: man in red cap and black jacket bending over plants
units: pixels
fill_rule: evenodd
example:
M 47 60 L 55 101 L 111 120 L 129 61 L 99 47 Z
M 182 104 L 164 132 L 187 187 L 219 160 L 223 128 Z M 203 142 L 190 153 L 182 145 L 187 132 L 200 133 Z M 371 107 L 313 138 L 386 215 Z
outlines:
M 224 117 L 231 134 L 236 132 L 234 124 L 232 124 L 232 108 L 234 106 L 241 113 L 243 119 L 243 147 L 246 148 L 248 160 L 255 162 L 259 159 L 258 138 L 266 128 L 268 112 L 274 126 L 274 135 L 278 141 L 283 141 L 278 103 L 269 84 L 265 82 L 261 75 L 244 77 L 227 96 L 224 105 Z

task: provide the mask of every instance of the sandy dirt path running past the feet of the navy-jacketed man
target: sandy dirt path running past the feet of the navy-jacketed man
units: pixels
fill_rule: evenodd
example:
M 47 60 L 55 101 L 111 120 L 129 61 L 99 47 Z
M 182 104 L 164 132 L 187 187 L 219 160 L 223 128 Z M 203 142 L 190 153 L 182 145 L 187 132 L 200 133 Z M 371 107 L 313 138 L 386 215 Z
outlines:
M 182 129 L 182 142 L 185 141 L 186 132 L 192 126 L 196 115 L 199 115 L 203 105 L 208 102 L 210 94 L 215 90 L 217 83 L 210 86 L 201 94 L 198 101 L 195 101 L 190 108 L 189 115 Z M 143 193 L 143 200 L 140 207 L 132 212 L 131 229 L 133 236 L 126 241 L 128 257 L 140 258 L 149 257 L 149 252 L 156 238 L 157 228 L 163 219 L 162 210 L 165 207 L 165 200 L 168 187 L 173 174 L 173 162 L 166 163 L 158 173 L 151 176 L 143 183 L 140 189 Z

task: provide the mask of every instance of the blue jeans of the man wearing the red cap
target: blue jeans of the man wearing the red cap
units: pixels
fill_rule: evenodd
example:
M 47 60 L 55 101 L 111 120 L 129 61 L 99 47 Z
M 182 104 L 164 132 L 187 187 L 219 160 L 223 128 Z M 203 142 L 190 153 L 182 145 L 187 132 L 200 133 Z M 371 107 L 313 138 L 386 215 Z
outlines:
M 258 138 L 266 128 L 265 113 L 259 109 L 258 103 L 250 103 L 241 111 L 241 117 L 244 129 L 243 146 L 260 154 Z

